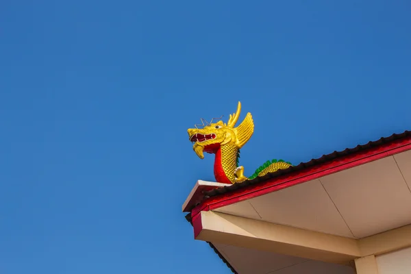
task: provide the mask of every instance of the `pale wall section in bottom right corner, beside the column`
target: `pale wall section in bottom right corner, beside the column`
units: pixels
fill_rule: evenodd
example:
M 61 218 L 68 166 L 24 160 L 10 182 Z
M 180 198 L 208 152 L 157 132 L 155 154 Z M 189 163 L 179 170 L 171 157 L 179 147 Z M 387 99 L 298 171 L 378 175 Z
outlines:
M 376 257 L 379 274 L 410 274 L 411 247 Z

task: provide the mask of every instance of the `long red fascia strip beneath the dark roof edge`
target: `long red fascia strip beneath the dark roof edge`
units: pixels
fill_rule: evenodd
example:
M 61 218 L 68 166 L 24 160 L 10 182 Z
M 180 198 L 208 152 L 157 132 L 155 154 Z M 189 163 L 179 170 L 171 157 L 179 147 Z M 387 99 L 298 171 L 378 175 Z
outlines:
M 228 206 L 239 201 L 244 201 L 260 195 L 264 195 L 276 190 L 295 186 L 303 182 L 311 181 L 325 175 L 350 169 L 354 166 L 359 166 L 367 162 L 373 162 L 390 155 L 394 155 L 411 149 L 411 138 L 395 140 L 393 142 L 379 145 L 365 151 L 359 151 L 351 155 L 336 158 L 323 164 L 318 164 L 302 171 L 289 173 L 288 175 L 279 176 L 269 179 L 266 182 L 250 185 L 245 188 L 240 188 L 236 191 L 228 192 L 225 195 L 218 195 L 203 201 L 199 206 L 191 212 L 192 217 L 199 216 L 199 212 L 215 210 L 223 206 Z M 215 171 L 215 166 L 214 166 Z M 202 228 L 201 228 L 202 229 Z M 195 227 L 195 231 L 201 231 L 199 227 Z

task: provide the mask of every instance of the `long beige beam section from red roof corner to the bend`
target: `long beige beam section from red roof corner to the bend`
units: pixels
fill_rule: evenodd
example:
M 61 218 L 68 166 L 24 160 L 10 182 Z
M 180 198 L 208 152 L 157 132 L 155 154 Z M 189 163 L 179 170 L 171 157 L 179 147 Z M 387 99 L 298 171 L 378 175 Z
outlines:
M 325 262 L 343 263 L 360 257 L 355 239 L 217 212 L 200 212 L 197 240 L 271 251 Z

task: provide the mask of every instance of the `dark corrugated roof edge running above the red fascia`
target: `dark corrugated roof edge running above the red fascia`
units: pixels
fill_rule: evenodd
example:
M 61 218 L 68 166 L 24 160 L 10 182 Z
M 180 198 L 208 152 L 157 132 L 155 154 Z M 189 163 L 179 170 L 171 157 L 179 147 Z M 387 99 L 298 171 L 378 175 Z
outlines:
M 212 190 L 206 190 L 203 192 L 204 198 L 201 204 L 197 204 L 197 207 L 193 208 L 193 210 L 186 215 L 187 221 L 189 221 L 192 224 L 192 216 L 195 216 L 195 214 L 199 213 L 201 210 L 204 210 L 202 204 L 206 203 L 208 199 L 213 197 L 213 199 L 218 199 L 219 197 L 224 198 L 227 197 L 227 195 L 230 194 L 236 194 L 236 192 L 246 192 L 248 189 L 250 191 L 253 191 L 253 186 L 260 186 L 264 185 L 267 182 L 272 182 L 274 179 L 277 179 L 277 177 L 292 177 L 296 173 L 301 173 L 302 171 L 312 171 L 314 172 L 316 170 L 316 167 L 318 166 L 323 166 L 324 164 L 327 164 L 329 162 L 336 162 L 340 161 L 341 164 L 347 163 L 350 159 L 352 160 L 353 158 L 350 156 L 356 156 L 356 155 L 361 155 L 364 154 L 364 158 L 372 158 L 371 157 L 371 152 L 373 153 L 382 153 L 382 155 L 385 155 L 387 152 L 386 149 L 401 149 L 401 147 L 410 147 L 411 144 L 411 132 L 410 131 L 405 131 L 401 134 L 393 134 L 388 137 L 383 137 L 379 138 L 379 140 L 375 141 L 370 141 L 366 143 L 365 145 L 358 145 L 357 147 L 351 148 L 351 149 L 345 149 L 343 151 L 334 151 L 332 153 L 329 153 L 327 155 L 323 155 L 321 158 L 317 159 L 312 159 L 308 162 L 301 162 L 301 164 L 298 164 L 297 166 L 290 166 L 288 169 L 282 169 L 275 171 L 273 173 L 267 173 L 266 175 L 262 177 L 256 177 L 255 179 L 250 179 L 245 182 L 242 182 L 240 184 L 232 184 L 230 186 L 223 186 L 219 188 L 214 188 Z M 385 149 L 385 150 L 384 150 Z M 408 148 L 409 149 L 409 148 Z M 376 152 L 377 151 L 377 152 Z M 375 155 L 375 154 L 374 154 Z M 356 162 L 356 165 L 360 164 L 361 158 L 359 162 Z M 284 186 L 288 187 L 288 186 Z M 213 200 L 210 199 L 210 200 Z M 193 215 L 192 215 L 193 214 Z M 227 264 L 229 269 L 233 273 L 236 273 L 235 269 L 233 268 L 232 265 L 225 260 L 225 258 L 222 256 L 221 253 L 212 245 L 211 242 L 208 242 L 210 247 L 214 249 L 214 251 L 219 255 L 219 257 Z

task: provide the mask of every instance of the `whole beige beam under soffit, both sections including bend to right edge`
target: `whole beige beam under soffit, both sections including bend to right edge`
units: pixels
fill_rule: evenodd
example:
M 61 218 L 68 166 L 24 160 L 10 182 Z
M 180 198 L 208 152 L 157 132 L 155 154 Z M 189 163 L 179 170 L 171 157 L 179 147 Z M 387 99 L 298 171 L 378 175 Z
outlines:
M 288 256 L 347 264 L 369 255 L 411 246 L 411 225 L 362 239 L 312 232 L 220 212 L 200 212 L 197 240 Z

